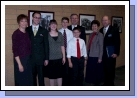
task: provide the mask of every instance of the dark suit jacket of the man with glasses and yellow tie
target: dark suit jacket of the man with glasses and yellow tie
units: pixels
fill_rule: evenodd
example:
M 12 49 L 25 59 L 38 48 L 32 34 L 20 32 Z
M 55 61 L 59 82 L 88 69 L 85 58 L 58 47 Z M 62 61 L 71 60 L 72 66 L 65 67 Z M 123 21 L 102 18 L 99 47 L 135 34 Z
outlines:
M 31 40 L 31 58 L 38 64 L 43 64 L 44 60 L 49 60 L 48 31 L 41 26 L 38 28 L 36 36 L 32 31 L 32 26 L 26 28 Z

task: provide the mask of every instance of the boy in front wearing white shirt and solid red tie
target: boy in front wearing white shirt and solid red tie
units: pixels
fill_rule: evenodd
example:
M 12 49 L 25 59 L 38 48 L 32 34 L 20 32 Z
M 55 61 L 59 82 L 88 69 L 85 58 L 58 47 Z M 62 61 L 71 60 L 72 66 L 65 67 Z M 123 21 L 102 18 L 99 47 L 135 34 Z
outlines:
M 83 86 L 84 66 L 87 63 L 87 50 L 83 39 L 80 36 L 80 28 L 73 29 L 73 38 L 68 42 L 67 58 L 69 67 L 72 69 L 71 85 Z

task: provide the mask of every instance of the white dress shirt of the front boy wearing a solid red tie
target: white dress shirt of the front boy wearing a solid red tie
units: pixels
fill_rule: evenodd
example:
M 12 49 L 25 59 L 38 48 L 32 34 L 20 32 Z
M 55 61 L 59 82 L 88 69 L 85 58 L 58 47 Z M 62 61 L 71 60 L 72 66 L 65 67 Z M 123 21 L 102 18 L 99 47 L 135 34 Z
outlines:
M 87 49 L 85 45 L 85 41 L 81 38 L 79 39 L 79 44 L 80 44 L 80 53 L 81 57 L 87 57 Z M 68 47 L 67 47 L 67 58 L 77 57 L 77 38 L 73 37 L 69 42 L 68 42 Z

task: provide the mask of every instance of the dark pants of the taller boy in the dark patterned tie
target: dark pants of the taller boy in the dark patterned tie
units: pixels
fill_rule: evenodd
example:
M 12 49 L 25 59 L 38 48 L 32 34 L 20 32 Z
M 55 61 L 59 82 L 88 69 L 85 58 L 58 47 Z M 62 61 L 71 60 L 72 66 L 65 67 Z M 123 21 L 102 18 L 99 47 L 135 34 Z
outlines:
M 62 65 L 62 86 L 69 85 L 69 74 L 68 74 L 69 64 L 68 59 L 66 58 L 66 62 Z

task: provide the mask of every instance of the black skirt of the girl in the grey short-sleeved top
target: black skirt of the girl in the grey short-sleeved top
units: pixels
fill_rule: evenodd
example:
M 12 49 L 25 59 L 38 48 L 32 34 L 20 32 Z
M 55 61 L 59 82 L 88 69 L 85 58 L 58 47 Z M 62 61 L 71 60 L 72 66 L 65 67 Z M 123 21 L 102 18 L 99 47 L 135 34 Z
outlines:
M 62 78 L 62 59 L 49 60 L 49 64 L 44 67 L 44 77 L 49 79 Z

